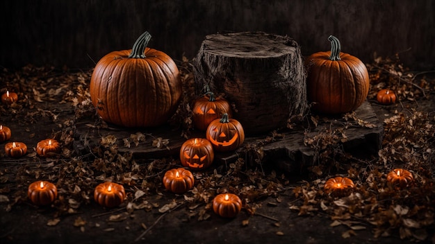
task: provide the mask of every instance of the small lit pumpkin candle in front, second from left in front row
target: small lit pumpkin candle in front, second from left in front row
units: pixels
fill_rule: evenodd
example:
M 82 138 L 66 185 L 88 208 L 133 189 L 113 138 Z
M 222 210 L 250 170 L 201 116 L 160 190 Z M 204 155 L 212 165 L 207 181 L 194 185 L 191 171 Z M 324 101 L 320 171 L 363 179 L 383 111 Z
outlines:
M 125 191 L 122 184 L 104 182 L 95 187 L 94 200 L 103 207 L 117 207 L 124 202 Z

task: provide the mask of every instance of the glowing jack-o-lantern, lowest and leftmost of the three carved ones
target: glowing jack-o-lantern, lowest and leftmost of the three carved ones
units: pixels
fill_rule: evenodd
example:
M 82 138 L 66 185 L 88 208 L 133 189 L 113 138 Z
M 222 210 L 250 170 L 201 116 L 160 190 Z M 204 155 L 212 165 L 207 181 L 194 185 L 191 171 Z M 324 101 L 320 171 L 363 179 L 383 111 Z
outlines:
M 211 166 L 214 157 L 213 146 L 203 138 L 188 139 L 180 148 L 181 164 L 193 170 Z

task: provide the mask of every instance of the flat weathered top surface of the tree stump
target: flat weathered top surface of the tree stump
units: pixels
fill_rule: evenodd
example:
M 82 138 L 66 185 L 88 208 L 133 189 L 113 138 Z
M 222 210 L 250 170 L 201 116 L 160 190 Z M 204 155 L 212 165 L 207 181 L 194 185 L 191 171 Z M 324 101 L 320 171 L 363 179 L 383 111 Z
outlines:
M 202 48 L 208 53 L 236 58 L 272 58 L 295 52 L 290 37 L 263 32 L 206 35 Z

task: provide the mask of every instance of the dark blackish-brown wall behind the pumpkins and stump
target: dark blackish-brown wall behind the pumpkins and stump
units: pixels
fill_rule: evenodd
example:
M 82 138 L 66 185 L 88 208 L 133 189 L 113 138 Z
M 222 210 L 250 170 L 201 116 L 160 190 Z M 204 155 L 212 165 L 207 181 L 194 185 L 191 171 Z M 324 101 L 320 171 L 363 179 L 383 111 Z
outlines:
M 174 60 L 195 57 L 208 34 L 264 31 L 293 37 L 303 55 L 336 35 L 363 62 L 400 53 L 408 67 L 434 69 L 434 13 L 431 0 L 2 0 L 0 66 L 92 68 L 148 30 L 149 46 Z

